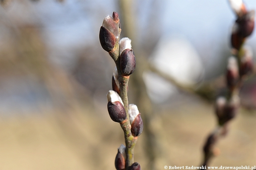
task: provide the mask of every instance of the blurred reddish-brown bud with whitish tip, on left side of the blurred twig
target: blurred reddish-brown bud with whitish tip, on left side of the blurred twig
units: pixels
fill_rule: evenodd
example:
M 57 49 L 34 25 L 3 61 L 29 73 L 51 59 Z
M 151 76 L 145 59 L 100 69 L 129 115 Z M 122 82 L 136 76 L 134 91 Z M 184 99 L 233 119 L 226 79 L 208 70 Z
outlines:
M 226 80 L 230 88 L 235 87 L 239 81 L 238 63 L 235 57 L 229 57 L 228 59 Z

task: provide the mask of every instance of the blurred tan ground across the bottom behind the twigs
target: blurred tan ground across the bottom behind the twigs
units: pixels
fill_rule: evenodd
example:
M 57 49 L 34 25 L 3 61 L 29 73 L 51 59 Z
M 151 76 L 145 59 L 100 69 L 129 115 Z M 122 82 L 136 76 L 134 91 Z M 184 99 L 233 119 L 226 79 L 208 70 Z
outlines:
M 204 101 L 158 113 L 154 126 L 161 126 L 162 155 L 157 169 L 164 166 L 198 166 L 202 145 L 214 129 L 212 105 Z M 123 132 L 105 114 L 76 107 L 60 111 L 1 117 L 0 169 L 114 169 Z M 143 113 L 142 113 L 143 114 Z M 256 112 L 240 109 L 229 134 L 219 141 L 220 154 L 212 166 L 256 165 Z M 161 124 L 159 124 L 159 122 Z M 159 129 L 159 127 L 156 127 Z M 144 135 L 135 147 L 135 161 L 146 167 Z

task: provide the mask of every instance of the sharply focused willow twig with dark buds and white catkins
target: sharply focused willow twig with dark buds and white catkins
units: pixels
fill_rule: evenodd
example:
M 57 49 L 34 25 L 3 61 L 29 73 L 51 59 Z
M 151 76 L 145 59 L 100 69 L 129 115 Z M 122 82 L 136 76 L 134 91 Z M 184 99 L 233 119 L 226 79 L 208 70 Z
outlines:
M 106 16 L 100 28 L 100 44 L 116 63 L 112 76 L 112 90 L 107 94 L 107 109 L 110 118 L 120 123 L 126 146 L 121 145 L 115 159 L 117 170 L 140 170 L 133 162 L 134 146 L 142 133 L 143 121 L 135 104 L 128 105 L 127 91 L 130 74 L 135 70 L 136 60 L 129 38 L 120 38 L 121 24 L 117 12 Z

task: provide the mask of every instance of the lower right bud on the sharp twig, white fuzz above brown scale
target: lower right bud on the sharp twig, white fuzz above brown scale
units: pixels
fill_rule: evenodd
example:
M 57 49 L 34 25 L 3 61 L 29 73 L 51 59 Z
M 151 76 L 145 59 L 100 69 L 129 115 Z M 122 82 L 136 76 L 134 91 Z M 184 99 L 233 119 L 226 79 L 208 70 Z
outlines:
M 143 130 L 143 121 L 140 116 L 138 107 L 135 104 L 129 104 L 128 113 L 130 118 L 130 123 L 132 125 L 131 131 L 132 135 L 139 136 Z

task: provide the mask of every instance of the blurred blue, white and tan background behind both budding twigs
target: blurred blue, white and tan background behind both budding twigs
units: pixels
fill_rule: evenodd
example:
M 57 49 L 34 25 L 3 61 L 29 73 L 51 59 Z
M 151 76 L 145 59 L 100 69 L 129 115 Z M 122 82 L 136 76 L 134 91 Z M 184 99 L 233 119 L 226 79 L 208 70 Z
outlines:
M 142 169 L 198 166 L 225 91 L 235 14 L 227 0 L 1 0 L 0 169 L 114 169 L 123 131 L 107 112 L 114 62 L 100 45 L 106 15 L 137 60 L 129 103 L 144 131 Z M 256 9 L 255 0 L 245 0 Z M 256 53 L 255 32 L 246 45 Z M 256 165 L 256 78 L 218 143 L 213 166 Z

